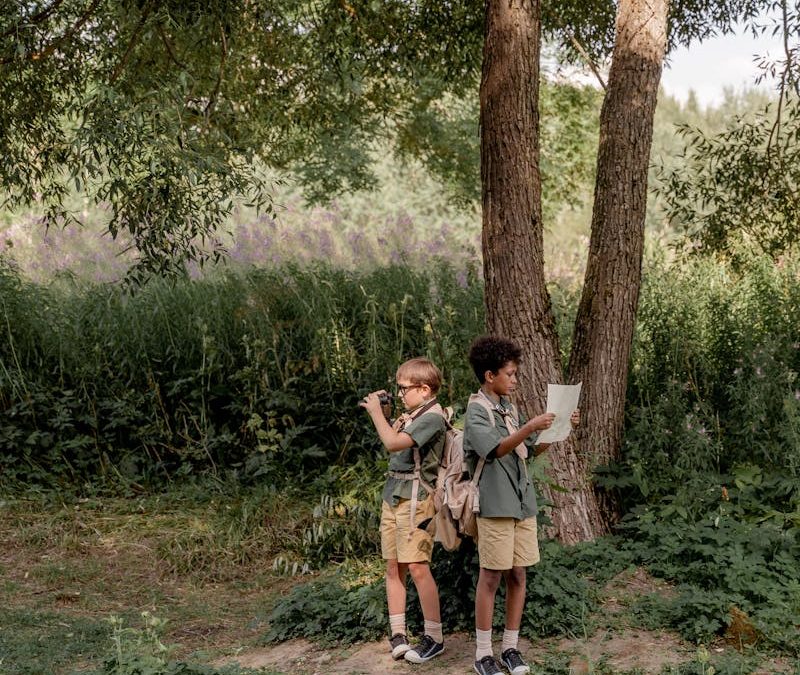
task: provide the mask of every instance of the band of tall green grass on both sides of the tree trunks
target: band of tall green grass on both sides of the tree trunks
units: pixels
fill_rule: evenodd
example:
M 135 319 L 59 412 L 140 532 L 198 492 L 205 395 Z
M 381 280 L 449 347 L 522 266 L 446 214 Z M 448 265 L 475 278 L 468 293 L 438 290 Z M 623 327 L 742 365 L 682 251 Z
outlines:
M 552 291 L 566 337 L 577 294 Z M 0 309 L 5 480 L 132 489 L 198 472 L 309 485 L 330 466 L 379 469 L 358 399 L 424 354 L 444 371 L 444 401 L 463 405 L 465 353 L 484 326 L 477 272 L 441 261 L 249 268 L 133 296 L 41 286 L 3 264 Z M 625 460 L 655 482 L 745 462 L 796 476 L 797 325 L 797 258 L 744 272 L 651 260 Z

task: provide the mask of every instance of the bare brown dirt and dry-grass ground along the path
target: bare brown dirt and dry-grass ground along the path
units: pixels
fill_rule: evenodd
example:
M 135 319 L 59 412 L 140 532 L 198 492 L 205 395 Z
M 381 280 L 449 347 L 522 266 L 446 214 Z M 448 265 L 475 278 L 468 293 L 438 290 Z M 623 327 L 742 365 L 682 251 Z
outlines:
M 268 564 L 214 582 L 176 573 L 157 555 L 160 542 L 148 539 L 163 529 L 161 524 L 151 518 L 152 529 L 142 532 L 141 524 L 128 527 L 129 517 L 94 518 L 91 523 L 77 514 L 67 522 L 33 513 L 0 517 L 0 602 L 7 609 L 57 612 L 65 619 L 100 621 L 116 614 L 127 617 L 128 625 L 135 625 L 139 612 L 147 610 L 168 620 L 163 641 L 177 645 L 174 656 L 194 662 L 239 663 L 293 675 L 473 672 L 474 637 L 465 633 L 446 636 L 445 653 L 420 666 L 393 661 L 385 641 L 323 648 L 292 640 L 254 647 L 266 632 L 272 600 L 297 581 L 275 576 Z M 626 624 L 626 605 L 653 592 L 669 594 L 671 589 L 641 569 L 624 572 L 604 589 L 599 616 L 592 622 L 600 628 L 593 634 L 521 640 L 520 648 L 533 663 L 558 659 L 576 675 L 634 669 L 658 673 L 691 660 L 695 647 L 676 635 Z M 730 649 L 722 642 L 712 646 L 717 652 Z M 73 663 L 58 672 L 86 665 Z M 764 672 L 787 670 L 788 665 L 774 661 Z

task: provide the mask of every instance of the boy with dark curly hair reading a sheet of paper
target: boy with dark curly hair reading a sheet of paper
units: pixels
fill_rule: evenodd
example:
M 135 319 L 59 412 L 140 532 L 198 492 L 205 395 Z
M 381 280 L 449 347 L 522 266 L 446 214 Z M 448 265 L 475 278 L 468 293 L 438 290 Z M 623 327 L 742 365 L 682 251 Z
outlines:
M 503 578 L 506 616 L 501 661 L 511 675 L 530 672 L 517 649 L 525 605 L 525 568 L 539 562 L 536 493 L 527 459 L 534 454 L 534 447 L 537 454 L 547 448 L 547 444 L 535 446 L 536 437 L 550 428 L 555 415 L 544 413 L 526 421 L 517 414 L 509 395 L 517 387 L 521 356 L 516 343 L 496 336 L 478 338 L 469 353 L 481 384 L 478 393 L 470 397 L 464 423 L 464 454 L 472 474 L 478 471 L 480 475 L 474 666 L 478 675 L 502 673 L 492 650 L 492 616 Z M 483 400 L 476 400 L 480 398 Z M 579 420 L 576 410 L 570 421 L 577 426 Z

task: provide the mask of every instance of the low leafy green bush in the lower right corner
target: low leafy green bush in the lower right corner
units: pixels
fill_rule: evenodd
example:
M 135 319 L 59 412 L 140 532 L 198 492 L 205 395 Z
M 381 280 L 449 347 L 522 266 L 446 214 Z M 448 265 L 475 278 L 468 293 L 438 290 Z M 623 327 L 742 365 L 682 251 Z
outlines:
M 743 612 L 762 643 L 800 650 L 798 490 L 792 479 L 742 467 L 635 507 L 621 523 L 635 562 L 676 584 L 674 597 L 647 598 L 636 612 L 706 642 Z

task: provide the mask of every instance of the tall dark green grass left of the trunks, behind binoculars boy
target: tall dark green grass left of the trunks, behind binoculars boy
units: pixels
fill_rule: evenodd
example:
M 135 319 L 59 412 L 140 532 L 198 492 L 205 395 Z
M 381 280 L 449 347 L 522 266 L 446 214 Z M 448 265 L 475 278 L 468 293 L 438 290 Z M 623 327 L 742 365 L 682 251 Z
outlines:
M 477 275 L 251 269 L 134 296 L 0 266 L 6 480 L 122 482 L 197 471 L 306 483 L 373 452 L 360 396 L 417 354 L 463 399 L 483 325 Z

